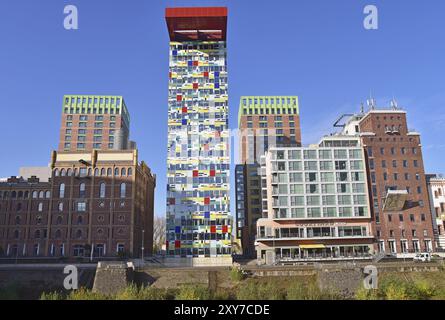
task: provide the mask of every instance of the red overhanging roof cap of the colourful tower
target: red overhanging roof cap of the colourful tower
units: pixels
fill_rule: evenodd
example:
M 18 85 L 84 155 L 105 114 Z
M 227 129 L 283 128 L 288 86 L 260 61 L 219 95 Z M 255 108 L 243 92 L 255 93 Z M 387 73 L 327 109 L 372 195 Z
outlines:
M 225 41 L 226 7 L 166 8 L 171 41 Z

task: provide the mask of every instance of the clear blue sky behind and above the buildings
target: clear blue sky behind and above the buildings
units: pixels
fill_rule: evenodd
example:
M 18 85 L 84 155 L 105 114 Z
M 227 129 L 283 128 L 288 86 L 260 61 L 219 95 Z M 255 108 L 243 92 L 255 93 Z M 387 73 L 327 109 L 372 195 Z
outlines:
M 79 9 L 79 30 L 63 8 Z M 363 28 L 363 8 L 379 29 Z M 303 143 L 331 132 L 370 93 L 395 97 L 422 133 L 427 172 L 445 173 L 445 2 L 442 0 L 1 0 L 0 177 L 46 165 L 64 94 L 123 95 L 131 137 L 158 175 L 165 213 L 167 6 L 228 6 L 231 127 L 241 95 L 298 95 Z

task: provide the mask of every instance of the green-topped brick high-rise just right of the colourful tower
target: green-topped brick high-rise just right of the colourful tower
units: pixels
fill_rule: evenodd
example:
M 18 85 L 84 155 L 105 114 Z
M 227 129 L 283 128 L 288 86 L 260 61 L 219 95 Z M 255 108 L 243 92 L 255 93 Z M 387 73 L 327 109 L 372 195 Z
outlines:
M 238 112 L 239 164 L 235 168 L 237 238 L 255 256 L 256 221 L 262 217 L 259 160 L 272 147 L 301 145 L 296 96 L 243 96 Z

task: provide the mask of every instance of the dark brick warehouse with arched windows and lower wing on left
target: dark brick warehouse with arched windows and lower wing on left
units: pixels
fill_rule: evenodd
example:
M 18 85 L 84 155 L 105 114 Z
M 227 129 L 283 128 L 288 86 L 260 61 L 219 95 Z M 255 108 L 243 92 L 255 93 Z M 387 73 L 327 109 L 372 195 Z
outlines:
M 136 150 L 53 152 L 51 168 L 47 183 L 12 177 L 0 184 L 0 252 L 140 256 L 143 241 L 152 253 L 156 178 Z

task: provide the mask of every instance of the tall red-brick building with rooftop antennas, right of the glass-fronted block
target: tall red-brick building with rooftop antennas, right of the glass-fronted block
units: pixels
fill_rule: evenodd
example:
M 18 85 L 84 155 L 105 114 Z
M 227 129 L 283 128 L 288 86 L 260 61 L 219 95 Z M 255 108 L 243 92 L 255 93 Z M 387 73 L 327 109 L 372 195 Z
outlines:
M 390 109 L 350 116 L 343 133 L 365 148 L 377 250 L 403 256 L 435 250 L 431 206 L 420 134 L 408 128 L 406 111 Z

